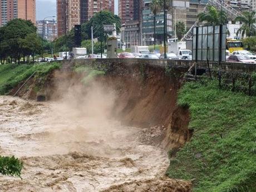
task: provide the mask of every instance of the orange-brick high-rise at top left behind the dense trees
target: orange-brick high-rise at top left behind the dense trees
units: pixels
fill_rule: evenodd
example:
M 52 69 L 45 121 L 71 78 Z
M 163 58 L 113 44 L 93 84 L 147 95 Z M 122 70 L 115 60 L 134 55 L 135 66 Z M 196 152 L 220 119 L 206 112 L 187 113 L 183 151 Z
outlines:
M 36 0 L 0 0 L 0 26 L 14 18 L 36 23 Z

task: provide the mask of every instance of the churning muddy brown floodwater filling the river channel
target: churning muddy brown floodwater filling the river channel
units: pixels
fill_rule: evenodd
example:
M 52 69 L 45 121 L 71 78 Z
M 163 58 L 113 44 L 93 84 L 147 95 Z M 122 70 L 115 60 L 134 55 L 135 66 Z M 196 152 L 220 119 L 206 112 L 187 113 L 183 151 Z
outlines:
M 0 176 L 0 191 L 189 191 L 165 178 L 166 151 L 144 142 L 157 132 L 71 105 L 0 96 L 1 155 L 24 163 L 22 180 Z

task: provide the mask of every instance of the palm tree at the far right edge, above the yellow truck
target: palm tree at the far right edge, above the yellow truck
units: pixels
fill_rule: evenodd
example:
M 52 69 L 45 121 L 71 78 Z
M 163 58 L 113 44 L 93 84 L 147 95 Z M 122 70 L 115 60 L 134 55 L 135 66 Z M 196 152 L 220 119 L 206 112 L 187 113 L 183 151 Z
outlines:
M 242 37 L 244 35 L 250 37 L 256 35 L 256 12 L 245 11 L 242 16 L 237 16 L 235 21 L 242 22 L 242 26 L 238 29 L 237 35 L 241 33 Z

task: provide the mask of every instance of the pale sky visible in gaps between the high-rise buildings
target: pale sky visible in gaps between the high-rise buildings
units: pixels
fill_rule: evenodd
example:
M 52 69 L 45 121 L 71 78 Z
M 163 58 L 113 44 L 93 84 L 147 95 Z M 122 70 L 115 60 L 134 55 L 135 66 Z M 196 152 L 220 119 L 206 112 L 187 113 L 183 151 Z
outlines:
M 56 0 L 36 0 L 36 19 L 56 16 Z M 115 14 L 118 14 L 118 0 L 115 0 Z

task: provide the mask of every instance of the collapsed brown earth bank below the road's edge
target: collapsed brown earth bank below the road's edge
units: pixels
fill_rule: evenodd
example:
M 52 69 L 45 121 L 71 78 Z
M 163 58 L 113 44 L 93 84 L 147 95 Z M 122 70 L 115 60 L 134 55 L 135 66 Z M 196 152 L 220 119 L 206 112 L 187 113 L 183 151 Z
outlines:
M 178 149 L 192 135 L 188 129 L 189 111 L 178 107 L 178 90 L 183 82 L 180 69 L 170 71 L 163 66 L 119 63 L 116 65 L 93 66 L 76 65 L 77 72 L 56 73 L 56 87 L 53 97 L 61 97 L 65 90 L 78 88 L 77 94 L 83 95 L 93 83 L 104 86 L 115 93 L 111 106 L 112 119 L 124 125 L 138 127 L 158 127 L 161 136 L 155 138 L 166 149 Z M 91 76 L 92 70 L 104 71 L 104 74 Z M 84 79 L 86 77 L 86 82 Z M 61 85 L 61 86 L 60 86 Z

